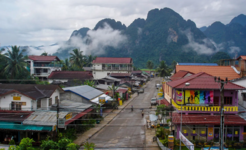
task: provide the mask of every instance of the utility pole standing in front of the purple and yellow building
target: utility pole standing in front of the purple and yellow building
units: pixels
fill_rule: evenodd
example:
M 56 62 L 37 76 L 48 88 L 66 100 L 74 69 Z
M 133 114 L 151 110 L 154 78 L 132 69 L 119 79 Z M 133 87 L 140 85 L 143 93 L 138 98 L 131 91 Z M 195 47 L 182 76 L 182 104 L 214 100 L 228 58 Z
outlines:
M 224 150 L 224 85 L 227 84 L 228 79 L 221 80 L 220 77 L 214 77 L 214 81 L 220 83 L 220 150 Z

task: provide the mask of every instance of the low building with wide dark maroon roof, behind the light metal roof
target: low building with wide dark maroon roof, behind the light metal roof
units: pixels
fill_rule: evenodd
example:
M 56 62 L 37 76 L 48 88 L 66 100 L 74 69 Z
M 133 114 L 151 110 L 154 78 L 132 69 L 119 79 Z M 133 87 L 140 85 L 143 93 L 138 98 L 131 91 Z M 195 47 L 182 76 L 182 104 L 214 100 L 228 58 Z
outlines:
M 91 71 L 53 71 L 48 76 L 48 81 L 51 84 L 59 84 L 68 86 L 78 86 L 86 80 L 93 80 Z

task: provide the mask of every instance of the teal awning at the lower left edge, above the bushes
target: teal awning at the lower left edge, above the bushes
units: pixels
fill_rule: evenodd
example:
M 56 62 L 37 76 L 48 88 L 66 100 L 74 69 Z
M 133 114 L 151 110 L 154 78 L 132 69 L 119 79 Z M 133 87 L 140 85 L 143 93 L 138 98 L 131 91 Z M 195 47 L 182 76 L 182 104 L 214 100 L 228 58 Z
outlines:
M 0 122 L 0 130 L 52 131 L 52 126 L 23 125 L 15 122 Z

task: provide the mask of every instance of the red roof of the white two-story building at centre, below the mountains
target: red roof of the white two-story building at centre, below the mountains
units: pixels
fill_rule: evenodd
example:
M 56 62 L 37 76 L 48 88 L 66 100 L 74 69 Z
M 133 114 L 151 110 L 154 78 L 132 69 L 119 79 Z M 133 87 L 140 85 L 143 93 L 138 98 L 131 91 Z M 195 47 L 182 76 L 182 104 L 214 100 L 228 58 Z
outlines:
M 104 64 L 130 64 L 132 63 L 132 58 L 129 57 L 97 57 L 92 63 L 104 63 Z

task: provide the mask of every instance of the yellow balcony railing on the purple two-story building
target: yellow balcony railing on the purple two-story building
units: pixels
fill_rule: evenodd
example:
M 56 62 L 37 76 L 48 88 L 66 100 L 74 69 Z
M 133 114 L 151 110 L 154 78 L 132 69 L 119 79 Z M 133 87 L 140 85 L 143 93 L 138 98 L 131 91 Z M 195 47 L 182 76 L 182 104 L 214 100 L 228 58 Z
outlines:
M 179 111 L 196 111 L 196 112 L 220 112 L 220 106 L 179 106 L 172 100 L 172 105 Z M 225 112 L 237 112 L 237 106 L 224 106 Z

